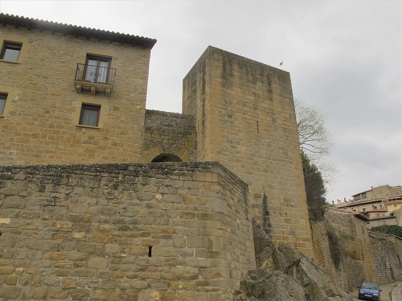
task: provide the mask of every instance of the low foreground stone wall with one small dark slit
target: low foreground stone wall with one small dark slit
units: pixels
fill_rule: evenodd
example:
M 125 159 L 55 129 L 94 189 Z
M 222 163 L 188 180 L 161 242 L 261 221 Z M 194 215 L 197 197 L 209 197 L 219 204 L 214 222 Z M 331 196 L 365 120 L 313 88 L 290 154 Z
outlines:
M 228 300 L 255 268 L 219 163 L 0 167 L 0 297 Z

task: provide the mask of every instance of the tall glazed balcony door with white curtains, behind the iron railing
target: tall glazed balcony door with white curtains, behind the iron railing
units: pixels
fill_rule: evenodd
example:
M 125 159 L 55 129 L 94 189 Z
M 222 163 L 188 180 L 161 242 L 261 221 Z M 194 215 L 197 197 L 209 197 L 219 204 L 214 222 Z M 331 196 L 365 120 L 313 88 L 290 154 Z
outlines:
M 109 83 L 110 58 L 87 56 L 84 79 L 91 83 Z

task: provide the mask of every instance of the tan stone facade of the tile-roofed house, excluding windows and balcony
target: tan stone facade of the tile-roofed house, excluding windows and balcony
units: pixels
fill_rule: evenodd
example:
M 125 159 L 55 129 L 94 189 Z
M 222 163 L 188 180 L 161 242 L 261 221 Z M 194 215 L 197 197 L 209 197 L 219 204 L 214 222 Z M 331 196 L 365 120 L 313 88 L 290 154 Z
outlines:
M 0 26 L 4 41 L 22 49 L 18 62 L 0 60 L 0 92 L 8 93 L 1 165 L 140 162 L 149 48 L 10 25 Z M 75 90 L 87 54 L 111 58 L 117 75 L 109 97 Z M 83 103 L 100 105 L 97 127 L 78 124 Z

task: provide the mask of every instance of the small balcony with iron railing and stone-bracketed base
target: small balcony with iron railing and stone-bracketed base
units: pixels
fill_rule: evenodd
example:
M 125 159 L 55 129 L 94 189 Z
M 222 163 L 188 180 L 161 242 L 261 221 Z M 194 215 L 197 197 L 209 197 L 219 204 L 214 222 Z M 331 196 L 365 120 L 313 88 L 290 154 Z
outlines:
M 96 92 L 105 93 L 110 96 L 113 92 L 116 79 L 116 69 L 77 64 L 75 70 L 74 87 L 78 93 L 81 91 L 90 91 L 92 95 Z

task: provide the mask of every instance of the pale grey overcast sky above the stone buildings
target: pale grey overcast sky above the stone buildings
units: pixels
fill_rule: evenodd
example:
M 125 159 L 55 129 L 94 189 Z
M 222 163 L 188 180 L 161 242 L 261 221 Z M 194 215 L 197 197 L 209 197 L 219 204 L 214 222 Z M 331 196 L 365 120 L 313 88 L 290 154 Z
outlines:
M 147 108 L 181 112 L 211 45 L 290 72 L 326 116 L 339 171 L 328 201 L 401 185 L 401 1 L 0 1 L 0 11 L 157 39 Z

